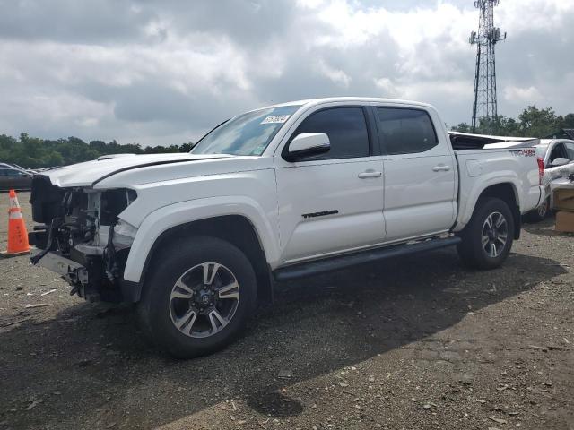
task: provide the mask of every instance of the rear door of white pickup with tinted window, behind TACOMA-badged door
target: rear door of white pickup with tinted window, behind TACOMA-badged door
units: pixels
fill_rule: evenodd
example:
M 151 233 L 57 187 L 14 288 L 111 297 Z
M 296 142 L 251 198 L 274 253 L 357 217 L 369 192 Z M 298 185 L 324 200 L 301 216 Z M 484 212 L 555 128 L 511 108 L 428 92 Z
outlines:
M 444 136 L 439 140 L 431 112 L 423 107 L 374 109 L 385 166 L 387 241 L 448 230 L 457 213 L 456 160 Z

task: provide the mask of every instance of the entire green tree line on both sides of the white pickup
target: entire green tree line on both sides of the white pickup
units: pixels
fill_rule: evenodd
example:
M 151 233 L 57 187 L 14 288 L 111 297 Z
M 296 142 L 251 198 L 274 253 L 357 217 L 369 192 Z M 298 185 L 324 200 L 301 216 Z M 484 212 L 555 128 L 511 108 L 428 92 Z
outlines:
M 546 137 L 562 128 L 574 128 L 574 113 L 559 116 L 552 107 L 539 109 L 529 106 L 515 118 L 499 116 L 496 119 L 481 118 L 475 133 L 501 136 Z M 460 123 L 453 131 L 472 133 L 471 125 Z M 23 168 L 48 168 L 97 159 L 101 155 L 133 153 L 153 154 L 162 152 L 187 152 L 193 142 L 170 146 L 147 146 L 139 143 L 119 144 L 117 141 L 83 142 L 77 137 L 67 139 L 41 139 L 27 133 L 19 138 L 0 135 L 0 162 L 13 163 Z

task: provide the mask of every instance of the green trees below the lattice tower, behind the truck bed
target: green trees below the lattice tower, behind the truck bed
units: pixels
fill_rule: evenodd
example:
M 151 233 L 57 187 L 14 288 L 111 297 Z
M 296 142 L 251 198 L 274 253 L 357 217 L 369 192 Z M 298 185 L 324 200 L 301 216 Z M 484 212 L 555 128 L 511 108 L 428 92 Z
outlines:
M 574 113 L 561 116 L 556 115 L 552 107 L 539 109 L 535 106 L 529 106 L 518 115 L 517 119 L 503 115 L 496 119 L 481 118 L 475 133 L 544 138 L 559 132 L 562 128 L 574 128 Z M 472 133 L 472 126 L 467 123 L 460 123 L 452 127 L 452 130 Z

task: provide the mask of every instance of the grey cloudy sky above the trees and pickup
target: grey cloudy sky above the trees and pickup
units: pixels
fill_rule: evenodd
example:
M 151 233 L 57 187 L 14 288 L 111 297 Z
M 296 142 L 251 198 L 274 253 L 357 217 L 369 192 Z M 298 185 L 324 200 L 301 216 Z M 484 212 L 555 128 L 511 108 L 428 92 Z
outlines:
M 473 0 L 0 0 L 0 134 L 196 140 L 243 110 L 359 95 L 470 121 Z M 499 113 L 574 111 L 574 0 L 500 0 Z

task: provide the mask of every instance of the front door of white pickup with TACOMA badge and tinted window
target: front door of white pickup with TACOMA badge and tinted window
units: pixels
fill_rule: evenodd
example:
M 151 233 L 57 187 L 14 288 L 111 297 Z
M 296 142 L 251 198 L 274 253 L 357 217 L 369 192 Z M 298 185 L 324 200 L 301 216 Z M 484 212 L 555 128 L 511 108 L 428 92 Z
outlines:
M 361 106 L 317 108 L 275 153 L 283 263 L 384 240 L 383 163 L 367 114 Z M 300 133 L 326 133 L 331 149 L 286 161 L 282 152 Z

